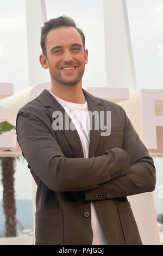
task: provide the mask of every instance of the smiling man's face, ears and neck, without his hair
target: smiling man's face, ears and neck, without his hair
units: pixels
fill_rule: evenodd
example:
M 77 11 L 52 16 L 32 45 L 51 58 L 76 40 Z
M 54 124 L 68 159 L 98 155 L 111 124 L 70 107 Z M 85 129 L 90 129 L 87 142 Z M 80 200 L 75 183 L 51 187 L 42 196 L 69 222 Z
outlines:
M 59 26 L 52 28 L 45 38 L 44 30 L 42 28 L 40 63 L 43 68 L 49 68 L 51 92 L 65 101 L 84 103 L 82 77 L 88 56 L 84 34 L 72 26 Z

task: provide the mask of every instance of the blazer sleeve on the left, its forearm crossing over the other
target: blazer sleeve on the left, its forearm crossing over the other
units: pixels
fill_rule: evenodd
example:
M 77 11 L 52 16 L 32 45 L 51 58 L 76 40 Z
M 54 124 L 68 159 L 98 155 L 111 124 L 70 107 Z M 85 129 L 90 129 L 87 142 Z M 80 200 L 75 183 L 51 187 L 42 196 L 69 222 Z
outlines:
M 127 152 L 120 148 L 102 156 L 66 158 L 56 139 L 33 113 L 19 111 L 16 117 L 17 141 L 33 172 L 53 191 L 85 191 L 112 179 L 116 169 L 131 171 Z

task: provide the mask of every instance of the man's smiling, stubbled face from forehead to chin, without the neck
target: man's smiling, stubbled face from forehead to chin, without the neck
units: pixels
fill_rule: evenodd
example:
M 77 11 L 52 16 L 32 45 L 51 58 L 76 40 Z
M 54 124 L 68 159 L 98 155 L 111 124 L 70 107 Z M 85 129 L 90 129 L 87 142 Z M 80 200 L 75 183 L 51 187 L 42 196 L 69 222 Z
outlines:
M 82 37 L 74 27 L 51 29 L 46 37 L 46 67 L 53 80 L 74 86 L 83 77 L 87 64 Z

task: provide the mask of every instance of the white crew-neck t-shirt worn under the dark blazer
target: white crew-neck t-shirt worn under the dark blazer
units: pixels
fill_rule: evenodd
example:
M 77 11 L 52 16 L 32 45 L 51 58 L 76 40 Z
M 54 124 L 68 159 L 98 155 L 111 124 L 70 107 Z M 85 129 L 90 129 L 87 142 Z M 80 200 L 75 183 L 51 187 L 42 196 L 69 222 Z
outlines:
M 51 93 L 49 91 L 49 93 Z M 51 93 L 55 99 L 60 103 L 60 105 L 65 109 L 67 114 L 70 116 L 74 126 L 76 127 L 80 141 L 83 147 L 84 157 L 89 157 L 89 143 L 90 143 L 90 119 L 89 119 L 89 109 L 87 106 L 87 101 L 84 104 L 72 103 L 60 99 Z M 101 225 L 96 214 L 95 206 L 91 201 L 91 225 L 93 231 L 93 241 L 92 245 L 108 245 L 105 239 Z

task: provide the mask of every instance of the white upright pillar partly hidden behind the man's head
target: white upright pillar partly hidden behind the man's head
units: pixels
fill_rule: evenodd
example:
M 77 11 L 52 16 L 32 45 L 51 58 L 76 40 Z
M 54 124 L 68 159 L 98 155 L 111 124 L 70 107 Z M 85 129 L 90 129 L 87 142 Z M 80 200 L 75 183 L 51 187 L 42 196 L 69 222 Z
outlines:
M 47 21 L 45 0 L 26 0 L 29 86 L 49 82 L 48 69 L 39 62 L 41 27 Z

